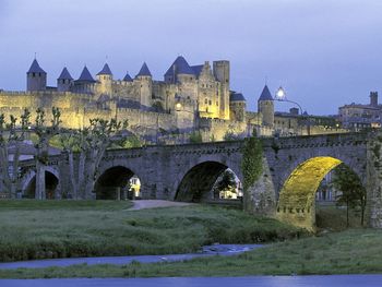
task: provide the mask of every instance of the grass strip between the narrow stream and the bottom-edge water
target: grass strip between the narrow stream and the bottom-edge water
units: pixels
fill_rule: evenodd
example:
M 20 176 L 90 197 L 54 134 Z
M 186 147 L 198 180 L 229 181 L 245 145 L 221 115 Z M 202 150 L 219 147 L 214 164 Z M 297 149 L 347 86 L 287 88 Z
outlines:
M 322 237 L 273 243 L 232 258 L 128 265 L 74 265 L 0 271 L 0 277 L 162 277 L 371 274 L 382 272 L 382 231 L 353 229 Z

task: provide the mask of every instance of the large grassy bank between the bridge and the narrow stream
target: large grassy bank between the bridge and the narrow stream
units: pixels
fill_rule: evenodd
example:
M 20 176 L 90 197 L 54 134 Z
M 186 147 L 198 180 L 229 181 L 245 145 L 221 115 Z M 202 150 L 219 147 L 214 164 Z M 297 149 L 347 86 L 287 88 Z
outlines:
M 299 237 L 299 229 L 205 205 L 129 211 L 130 202 L 0 201 L 0 261 L 194 252 L 203 244 Z

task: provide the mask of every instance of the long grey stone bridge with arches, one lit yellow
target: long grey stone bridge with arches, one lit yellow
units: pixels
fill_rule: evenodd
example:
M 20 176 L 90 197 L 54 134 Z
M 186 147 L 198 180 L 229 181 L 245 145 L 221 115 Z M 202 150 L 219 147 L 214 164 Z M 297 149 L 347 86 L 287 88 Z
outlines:
M 371 226 L 382 226 L 382 136 L 378 133 L 348 133 L 262 139 L 263 174 L 244 198 L 250 212 L 271 214 L 297 226 L 313 228 L 314 199 L 323 177 L 341 163 L 350 167 L 368 191 Z M 203 201 L 227 168 L 242 181 L 244 142 L 215 142 L 172 146 L 147 146 L 107 151 L 95 184 L 95 193 L 123 188 L 136 175 L 142 199 Z M 25 162 L 23 193 L 33 190 L 34 169 Z M 70 190 L 63 155 L 49 158 L 48 198 Z M 48 178 L 49 177 L 49 178 Z

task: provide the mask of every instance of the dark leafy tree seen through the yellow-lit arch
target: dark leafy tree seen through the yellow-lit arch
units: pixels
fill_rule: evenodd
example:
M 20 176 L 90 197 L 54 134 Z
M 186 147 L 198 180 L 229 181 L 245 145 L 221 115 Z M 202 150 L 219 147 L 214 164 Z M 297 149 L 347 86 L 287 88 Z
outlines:
M 349 226 L 349 208 L 360 208 L 361 225 L 363 226 L 366 211 L 366 189 L 359 177 L 346 165 L 341 164 L 335 170 L 332 186 L 341 192 L 337 205 L 346 206 L 346 226 Z

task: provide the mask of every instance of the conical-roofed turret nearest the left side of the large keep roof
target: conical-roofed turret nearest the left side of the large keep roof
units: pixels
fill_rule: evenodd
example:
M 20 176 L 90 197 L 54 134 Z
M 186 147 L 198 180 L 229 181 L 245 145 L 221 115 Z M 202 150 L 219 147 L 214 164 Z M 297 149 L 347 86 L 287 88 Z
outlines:
M 138 91 L 140 91 L 141 106 L 144 109 L 152 107 L 153 76 L 146 63 L 142 64 L 140 72 L 135 75 Z

